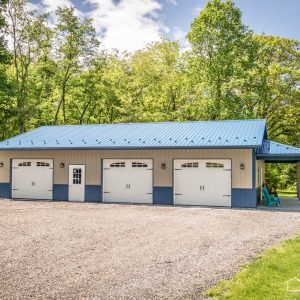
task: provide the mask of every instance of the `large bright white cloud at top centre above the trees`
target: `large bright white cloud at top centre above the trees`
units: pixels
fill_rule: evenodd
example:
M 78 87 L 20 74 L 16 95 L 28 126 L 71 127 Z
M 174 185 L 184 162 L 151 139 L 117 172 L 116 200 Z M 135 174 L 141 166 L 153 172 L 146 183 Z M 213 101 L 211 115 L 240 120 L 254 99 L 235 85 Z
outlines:
M 158 41 L 169 28 L 159 20 L 158 0 L 86 0 L 102 45 L 108 49 L 135 51 Z

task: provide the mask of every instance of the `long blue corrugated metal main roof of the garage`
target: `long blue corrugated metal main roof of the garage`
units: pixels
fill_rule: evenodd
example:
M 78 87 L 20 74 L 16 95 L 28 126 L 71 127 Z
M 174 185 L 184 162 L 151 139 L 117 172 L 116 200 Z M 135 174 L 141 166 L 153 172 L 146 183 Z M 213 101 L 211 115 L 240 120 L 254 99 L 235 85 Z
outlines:
M 0 149 L 256 148 L 265 120 L 43 126 Z

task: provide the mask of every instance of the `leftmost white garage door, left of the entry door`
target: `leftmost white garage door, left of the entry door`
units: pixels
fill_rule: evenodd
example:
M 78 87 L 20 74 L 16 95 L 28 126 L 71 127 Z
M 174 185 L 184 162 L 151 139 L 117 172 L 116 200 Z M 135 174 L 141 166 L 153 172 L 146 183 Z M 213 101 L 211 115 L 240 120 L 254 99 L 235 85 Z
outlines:
M 51 200 L 52 189 L 52 159 L 13 159 L 12 198 Z

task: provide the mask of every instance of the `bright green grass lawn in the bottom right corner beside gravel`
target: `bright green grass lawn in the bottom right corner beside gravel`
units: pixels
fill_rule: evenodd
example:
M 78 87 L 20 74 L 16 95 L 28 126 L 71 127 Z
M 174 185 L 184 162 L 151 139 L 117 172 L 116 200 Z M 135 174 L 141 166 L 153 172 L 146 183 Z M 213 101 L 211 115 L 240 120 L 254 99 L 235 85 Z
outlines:
M 287 291 L 286 281 L 300 279 L 300 236 L 262 253 L 230 280 L 205 292 L 214 299 L 300 299 L 300 292 Z M 300 289 L 291 284 L 293 289 Z

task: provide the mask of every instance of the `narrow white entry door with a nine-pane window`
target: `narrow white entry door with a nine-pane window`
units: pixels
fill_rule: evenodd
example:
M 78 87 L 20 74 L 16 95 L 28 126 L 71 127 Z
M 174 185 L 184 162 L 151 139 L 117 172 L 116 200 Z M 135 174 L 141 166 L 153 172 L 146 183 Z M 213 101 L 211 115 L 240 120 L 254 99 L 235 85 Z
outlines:
M 84 201 L 85 165 L 69 165 L 69 201 Z

